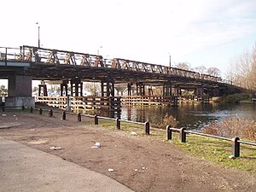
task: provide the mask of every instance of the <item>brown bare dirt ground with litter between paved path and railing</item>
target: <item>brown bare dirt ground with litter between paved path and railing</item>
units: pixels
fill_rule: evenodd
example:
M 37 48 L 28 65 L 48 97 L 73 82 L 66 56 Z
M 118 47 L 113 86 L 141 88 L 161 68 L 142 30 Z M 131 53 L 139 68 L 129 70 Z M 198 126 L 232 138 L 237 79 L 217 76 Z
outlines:
M 113 177 L 135 191 L 255 191 L 256 176 L 196 159 L 172 143 L 93 125 L 93 119 L 0 112 L 0 137 Z M 91 148 L 100 143 L 100 148 Z M 50 149 L 61 147 L 60 149 Z M 108 169 L 113 169 L 109 172 Z

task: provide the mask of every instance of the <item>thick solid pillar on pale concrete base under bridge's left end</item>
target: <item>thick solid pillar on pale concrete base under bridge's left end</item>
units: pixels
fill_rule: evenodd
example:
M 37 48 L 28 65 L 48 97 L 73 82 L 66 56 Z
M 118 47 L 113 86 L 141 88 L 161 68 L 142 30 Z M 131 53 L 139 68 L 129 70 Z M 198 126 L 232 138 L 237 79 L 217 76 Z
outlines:
M 9 76 L 8 97 L 5 106 L 9 108 L 35 107 L 32 97 L 32 77 L 24 75 Z

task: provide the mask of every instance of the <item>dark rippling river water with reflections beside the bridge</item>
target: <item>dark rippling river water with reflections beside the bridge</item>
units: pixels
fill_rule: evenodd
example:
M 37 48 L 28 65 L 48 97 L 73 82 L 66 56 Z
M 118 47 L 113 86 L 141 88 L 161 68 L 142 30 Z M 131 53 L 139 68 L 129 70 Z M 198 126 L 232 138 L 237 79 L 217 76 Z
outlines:
M 166 113 L 172 114 L 177 119 L 177 127 L 201 129 L 204 125 L 228 117 L 239 116 L 246 119 L 256 119 L 256 106 L 253 104 L 220 103 L 182 103 L 178 107 L 125 106 L 122 107 L 120 119 L 138 122 L 148 120 L 150 123 L 159 124 Z

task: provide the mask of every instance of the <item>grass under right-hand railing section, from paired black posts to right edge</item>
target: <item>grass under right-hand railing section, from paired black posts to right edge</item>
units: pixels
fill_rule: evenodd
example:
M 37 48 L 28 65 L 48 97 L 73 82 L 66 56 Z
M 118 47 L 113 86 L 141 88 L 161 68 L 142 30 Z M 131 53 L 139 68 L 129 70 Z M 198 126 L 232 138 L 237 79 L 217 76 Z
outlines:
M 256 173 L 256 147 L 241 144 L 241 157 L 230 159 L 232 155 L 232 143 L 211 137 L 188 135 L 187 143 L 180 143 L 178 134 L 174 133 L 171 143 L 176 144 L 183 150 L 197 158 L 212 161 L 220 166 L 227 166 Z

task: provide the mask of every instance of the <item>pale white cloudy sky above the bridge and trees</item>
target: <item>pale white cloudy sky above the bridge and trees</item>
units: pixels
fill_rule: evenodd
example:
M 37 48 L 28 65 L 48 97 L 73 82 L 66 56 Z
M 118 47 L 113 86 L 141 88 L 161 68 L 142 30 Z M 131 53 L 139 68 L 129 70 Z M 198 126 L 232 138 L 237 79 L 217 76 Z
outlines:
M 0 47 L 38 46 L 169 66 L 218 67 L 256 42 L 255 0 L 8 0 Z M 38 24 L 36 24 L 38 22 Z

